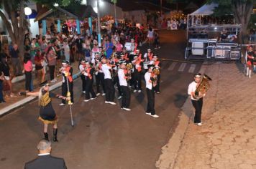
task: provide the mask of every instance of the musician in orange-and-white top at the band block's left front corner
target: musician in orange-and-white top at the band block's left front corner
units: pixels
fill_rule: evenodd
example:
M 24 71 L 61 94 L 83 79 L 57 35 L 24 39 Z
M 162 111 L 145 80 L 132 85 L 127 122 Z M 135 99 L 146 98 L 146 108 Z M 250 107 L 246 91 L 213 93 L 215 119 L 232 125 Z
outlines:
M 96 99 L 95 92 L 93 91 L 93 73 L 94 68 L 91 67 L 90 62 L 86 62 L 86 72 L 84 73 L 84 75 L 86 76 L 86 100 L 83 100 L 84 102 Z

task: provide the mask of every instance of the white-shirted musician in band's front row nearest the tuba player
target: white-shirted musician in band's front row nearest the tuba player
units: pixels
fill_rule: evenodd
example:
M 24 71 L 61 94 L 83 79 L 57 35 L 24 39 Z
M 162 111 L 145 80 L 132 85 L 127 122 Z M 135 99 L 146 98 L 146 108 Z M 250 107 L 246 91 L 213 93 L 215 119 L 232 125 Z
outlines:
M 149 65 L 147 72 L 145 73 L 145 82 L 147 90 L 147 110 L 146 114 L 151 115 L 152 117 L 159 117 L 155 114 L 155 91 L 152 84 L 152 69 L 153 65 Z

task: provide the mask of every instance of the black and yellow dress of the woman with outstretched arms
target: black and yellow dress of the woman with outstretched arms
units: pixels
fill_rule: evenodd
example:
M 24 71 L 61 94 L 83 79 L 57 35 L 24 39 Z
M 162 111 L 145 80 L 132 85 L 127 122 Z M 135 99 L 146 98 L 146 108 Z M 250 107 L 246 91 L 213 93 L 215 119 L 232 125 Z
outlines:
M 42 97 L 40 100 L 40 116 L 38 117 L 45 124 L 55 124 L 58 118 L 52 108 L 52 99 L 54 94 L 42 90 Z

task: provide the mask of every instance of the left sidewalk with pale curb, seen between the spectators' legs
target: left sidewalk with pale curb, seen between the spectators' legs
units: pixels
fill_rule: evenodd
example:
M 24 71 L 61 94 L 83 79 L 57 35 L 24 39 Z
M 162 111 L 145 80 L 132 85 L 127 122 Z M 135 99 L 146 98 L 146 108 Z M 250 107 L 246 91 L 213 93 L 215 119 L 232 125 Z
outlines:
M 78 62 L 74 62 L 73 64 L 71 64 L 71 66 L 73 67 L 73 79 L 76 79 L 78 77 L 79 71 L 78 71 Z M 35 77 L 35 74 L 32 75 L 33 78 L 33 84 L 34 84 L 34 90 L 38 90 L 39 87 L 39 81 L 37 79 L 37 77 Z M 45 79 L 47 79 L 48 83 L 50 84 L 50 90 L 54 90 L 58 87 L 61 86 L 62 84 L 62 76 L 56 77 L 57 82 L 55 83 L 51 83 L 50 82 L 50 75 L 49 72 L 46 73 L 45 75 Z M 5 103 L 1 103 L 0 104 L 0 117 L 2 115 L 5 115 L 6 113 L 16 109 L 17 107 L 20 107 L 24 104 L 26 104 L 27 102 L 30 102 L 32 100 L 35 99 L 35 97 L 24 97 L 24 96 L 18 96 L 17 93 L 18 92 L 24 92 L 24 88 L 25 88 L 25 84 L 24 84 L 24 80 L 16 82 L 13 84 L 13 92 L 15 94 L 14 97 L 4 97 L 5 99 Z

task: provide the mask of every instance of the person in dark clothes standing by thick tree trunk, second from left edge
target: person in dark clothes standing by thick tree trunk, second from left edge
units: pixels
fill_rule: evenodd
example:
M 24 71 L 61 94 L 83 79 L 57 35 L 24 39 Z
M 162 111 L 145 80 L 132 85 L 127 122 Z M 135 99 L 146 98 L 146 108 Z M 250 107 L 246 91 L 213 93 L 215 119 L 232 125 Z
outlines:
M 15 76 L 22 75 L 22 67 L 19 60 L 19 49 L 17 44 L 14 44 L 12 47 L 10 47 L 9 54 L 12 58 L 12 68 L 14 69 Z

